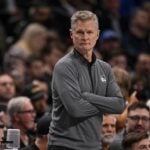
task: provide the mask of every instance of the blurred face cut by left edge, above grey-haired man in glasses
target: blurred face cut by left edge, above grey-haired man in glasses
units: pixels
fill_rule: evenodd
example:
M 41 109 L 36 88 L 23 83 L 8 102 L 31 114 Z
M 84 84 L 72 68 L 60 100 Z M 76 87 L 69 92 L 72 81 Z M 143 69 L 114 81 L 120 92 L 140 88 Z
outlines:
M 0 100 L 7 102 L 15 94 L 16 90 L 13 78 L 7 74 L 0 75 Z

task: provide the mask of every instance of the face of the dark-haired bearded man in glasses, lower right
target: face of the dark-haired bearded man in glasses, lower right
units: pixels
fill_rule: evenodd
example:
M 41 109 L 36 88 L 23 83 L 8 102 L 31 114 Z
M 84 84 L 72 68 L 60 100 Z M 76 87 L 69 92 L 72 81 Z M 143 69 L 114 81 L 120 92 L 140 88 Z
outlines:
M 150 130 L 150 112 L 137 108 L 129 112 L 126 122 L 127 132 L 144 132 Z

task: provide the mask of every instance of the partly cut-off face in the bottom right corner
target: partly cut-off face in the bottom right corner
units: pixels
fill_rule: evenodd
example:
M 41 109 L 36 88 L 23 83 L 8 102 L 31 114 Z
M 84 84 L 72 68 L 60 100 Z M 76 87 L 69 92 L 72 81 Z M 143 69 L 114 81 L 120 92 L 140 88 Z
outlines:
M 131 150 L 150 150 L 150 139 L 142 139 L 132 145 Z

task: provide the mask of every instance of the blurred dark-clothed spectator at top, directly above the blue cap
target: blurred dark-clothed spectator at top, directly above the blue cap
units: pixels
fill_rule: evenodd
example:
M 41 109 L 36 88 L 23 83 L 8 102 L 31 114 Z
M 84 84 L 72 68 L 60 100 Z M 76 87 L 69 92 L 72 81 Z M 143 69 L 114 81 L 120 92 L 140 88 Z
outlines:
M 126 20 L 120 15 L 120 0 L 101 0 L 98 5 L 96 14 L 100 21 L 100 29 L 102 31 L 114 30 L 121 39 L 122 32 L 126 31 L 128 26 Z

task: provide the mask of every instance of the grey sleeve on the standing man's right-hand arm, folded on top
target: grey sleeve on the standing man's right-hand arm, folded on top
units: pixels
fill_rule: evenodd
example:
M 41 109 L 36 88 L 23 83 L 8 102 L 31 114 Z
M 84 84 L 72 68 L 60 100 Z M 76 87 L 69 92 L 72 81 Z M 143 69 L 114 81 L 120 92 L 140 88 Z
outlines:
M 125 101 L 115 81 L 111 68 L 109 68 L 107 80 L 106 96 L 88 92 L 84 92 L 82 96 L 103 113 L 121 113 L 125 107 Z

